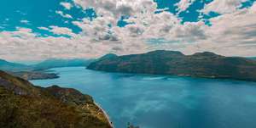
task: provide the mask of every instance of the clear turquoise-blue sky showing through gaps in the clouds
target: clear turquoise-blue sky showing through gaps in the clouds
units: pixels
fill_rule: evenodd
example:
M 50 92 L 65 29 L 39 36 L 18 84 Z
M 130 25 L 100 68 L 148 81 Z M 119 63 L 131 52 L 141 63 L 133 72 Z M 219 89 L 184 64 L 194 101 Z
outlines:
M 206 2 L 196 1 L 192 6 L 188 8 L 189 12 L 183 12 L 178 14 L 178 16 L 184 21 L 198 21 L 200 13 L 197 12 L 198 9 L 204 7 L 205 3 L 210 3 L 212 0 L 206 0 Z M 1 31 L 15 31 L 16 27 L 29 27 L 37 32 L 45 32 L 38 30 L 38 26 L 49 26 L 57 25 L 62 27 L 72 28 L 74 32 L 81 31 L 79 27 L 73 25 L 70 21 L 73 19 L 67 19 L 61 17 L 59 14 L 55 14 L 55 10 L 61 10 L 64 13 L 68 13 L 73 16 L 74 19 L 83 19 L 88 16 L 94 18 L 95 15 L 93 10 L 87 10 L 87 13 L 84 14 L 82 8 L 72 8 L 70 10 L 64 9 L 61 6 L 61 2 L 70 2 L 68 0 L 44 0 L 44 1 L 35 1 L 35 0 L 9 0 L 3 2 L 0 5 L 0 20 Z M 178 3 L 179 0 L 155 0 L 158 4 L 158 8 L 169 8 L 167 11 L 177 14 L 177 6 L 174 6 L 175 3 Z M 120 18 L 121 19 L 121 18 Z M 20 23 L 20 20 L 28 20 L 29 24 Z M 65 21 L 69 21 L 65 23 Z M 125 23 L 120 26 L 125 25 Z

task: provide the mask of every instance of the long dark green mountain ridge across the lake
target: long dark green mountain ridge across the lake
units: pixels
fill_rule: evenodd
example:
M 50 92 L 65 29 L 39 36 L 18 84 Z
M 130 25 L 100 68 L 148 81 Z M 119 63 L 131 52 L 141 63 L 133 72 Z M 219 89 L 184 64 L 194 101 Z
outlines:
M 143 54 L 112 56 L 99 58 L 87 66 L 87 69 L 256 81 L 256 61 L 248 58 L 224 57 L 210 52 L 184 55 L 176 51 L 159 50 Z

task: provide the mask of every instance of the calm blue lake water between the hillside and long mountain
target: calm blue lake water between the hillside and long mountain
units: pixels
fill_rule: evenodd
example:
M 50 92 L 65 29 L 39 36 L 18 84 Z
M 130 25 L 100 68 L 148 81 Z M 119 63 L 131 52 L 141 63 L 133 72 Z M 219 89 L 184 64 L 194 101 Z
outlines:
M 61 78 L 32 83 L 90 94 L 116 128 L 256 128 L 256 82 L 51 70 Z

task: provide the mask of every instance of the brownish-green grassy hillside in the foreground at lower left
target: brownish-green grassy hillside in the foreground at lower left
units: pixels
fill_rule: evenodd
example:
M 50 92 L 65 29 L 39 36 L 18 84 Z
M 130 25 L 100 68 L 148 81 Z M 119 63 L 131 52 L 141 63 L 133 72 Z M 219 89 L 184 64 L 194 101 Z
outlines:
M 71 88 L 33 86 L 0 71 L 0 127 L 111 128 L 89 95 Z

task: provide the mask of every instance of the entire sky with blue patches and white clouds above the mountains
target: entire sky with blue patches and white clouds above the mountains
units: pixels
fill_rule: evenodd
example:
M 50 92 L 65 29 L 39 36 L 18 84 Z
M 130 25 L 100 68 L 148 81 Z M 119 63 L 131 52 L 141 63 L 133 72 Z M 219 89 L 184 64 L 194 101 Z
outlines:
M 0 58 L 174 50 L 256 56 L 256 0 L 8 0 Z

